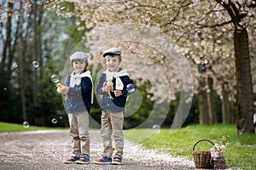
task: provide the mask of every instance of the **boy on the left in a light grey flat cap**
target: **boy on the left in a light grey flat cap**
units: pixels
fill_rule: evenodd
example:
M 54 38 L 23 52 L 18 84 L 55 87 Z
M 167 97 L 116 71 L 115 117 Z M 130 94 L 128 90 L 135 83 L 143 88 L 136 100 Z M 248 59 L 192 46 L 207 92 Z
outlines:
M 67 87 L 61 90 L 67 99 L 68 122 L 73 156 L 65 163 L 90 162 L 89 113 L 93 90 L 90 71 L 86 71 L 88 55 L 75 52 L 70 56 L 74 71 L 67 77 Z

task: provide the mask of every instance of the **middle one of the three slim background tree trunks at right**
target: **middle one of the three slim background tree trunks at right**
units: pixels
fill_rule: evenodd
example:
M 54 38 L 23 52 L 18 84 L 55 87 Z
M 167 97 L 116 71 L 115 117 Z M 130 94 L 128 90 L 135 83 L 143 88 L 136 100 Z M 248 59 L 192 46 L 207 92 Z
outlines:
M 212 77 L 207 77 L 207 84 L 210 92 L 207 93 L 207 105 L 209 114 L 209 124 L 217 123 L 217 111 L 214 99 L 213 80 Z

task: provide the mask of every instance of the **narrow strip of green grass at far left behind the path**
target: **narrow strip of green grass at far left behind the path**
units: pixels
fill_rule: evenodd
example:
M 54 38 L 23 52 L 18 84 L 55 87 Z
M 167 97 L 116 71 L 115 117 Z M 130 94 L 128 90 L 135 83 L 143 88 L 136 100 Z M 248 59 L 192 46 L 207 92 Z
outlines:
M 23 131 L 34 131 L 34 130 L 50 130 L 55 129 L 53 127 L 23 127 L 23 124 L 15 124 L 8 122 L 0 122 L 0 133 L 11 133 L 11 132 L 23 132 Z

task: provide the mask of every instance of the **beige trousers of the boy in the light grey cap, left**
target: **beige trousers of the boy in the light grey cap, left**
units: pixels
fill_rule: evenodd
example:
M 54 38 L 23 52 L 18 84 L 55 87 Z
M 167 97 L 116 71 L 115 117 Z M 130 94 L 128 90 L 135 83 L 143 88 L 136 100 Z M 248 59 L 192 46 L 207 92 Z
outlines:
M 88 111 L 69 113 L 70 137 L 74 156 L 90 158 L 89 114 Z

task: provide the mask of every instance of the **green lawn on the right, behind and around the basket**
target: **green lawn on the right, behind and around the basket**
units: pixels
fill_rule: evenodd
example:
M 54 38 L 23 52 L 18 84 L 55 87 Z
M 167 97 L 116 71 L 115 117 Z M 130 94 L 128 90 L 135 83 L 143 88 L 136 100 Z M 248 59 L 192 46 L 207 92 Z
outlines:
M 198 140 L 210 139 L 215 143 L 225 136 L 230 143 L 224 150 L 227 166 L 246 170 L 256 167 L 256 135 L 237 135 L 235 125 L 190 125 L 177 131 L 161 129 L 160 133 L 154 133 L 150 138 L 145 139 L 149 133 L 152 133 L 152 129 L 129 130 L 125 132 L 125 138 L 157 152 L 167 152 L 172 156 L 185 156 L 193 160 L 192 149 Z M 195 150 L 209 151 L 211 147 L 212 144 L 209 142 L 200 142 L 196 144 Z

